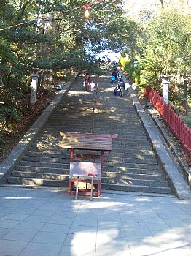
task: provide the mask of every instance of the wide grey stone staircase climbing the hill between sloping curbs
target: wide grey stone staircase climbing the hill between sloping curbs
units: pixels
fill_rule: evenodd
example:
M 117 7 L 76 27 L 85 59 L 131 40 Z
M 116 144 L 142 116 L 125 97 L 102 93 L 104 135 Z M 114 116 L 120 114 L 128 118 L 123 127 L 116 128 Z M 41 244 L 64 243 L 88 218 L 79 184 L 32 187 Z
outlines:
M 88 93 L 82 78 L 74 81 L 7 183 L 68 187 L 69 151 L 59 146 L 60 132 L 93 132 L 117 134 L 112 152 L 104 153 L 101 189 L 171 193 L 130 97 L 114 96 L 109 75 L 98 84 Z

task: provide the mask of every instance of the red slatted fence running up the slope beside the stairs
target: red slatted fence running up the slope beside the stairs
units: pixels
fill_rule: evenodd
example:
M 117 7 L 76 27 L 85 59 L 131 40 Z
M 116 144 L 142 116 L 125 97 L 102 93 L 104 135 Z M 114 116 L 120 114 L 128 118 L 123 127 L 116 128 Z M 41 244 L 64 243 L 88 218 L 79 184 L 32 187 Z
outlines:
M 168 126 L 176 135 L 176 138 L 182 143 L 182 146 L 186 149 L 187 153 L 191 157 L 191 129 L 187 127 L 182 118 L 178 116 L 171 106 L 168 106 L 163 97 L 157 94 L 157 91 L 154 91 L 150 88 L 144 90 L 144 95 L 152 102 L 152 105 L 159 112 Z

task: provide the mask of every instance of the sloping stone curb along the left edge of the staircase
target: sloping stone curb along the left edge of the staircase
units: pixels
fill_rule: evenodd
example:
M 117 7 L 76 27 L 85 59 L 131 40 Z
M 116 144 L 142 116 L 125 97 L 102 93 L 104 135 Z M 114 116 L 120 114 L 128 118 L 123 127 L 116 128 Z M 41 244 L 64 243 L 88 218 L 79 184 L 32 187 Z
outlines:
M 36 135 L 38 134 L 40 129 L 42 129 L 45 122 L 52 114 L 52 111 L 56 108 L 56 106 L 64 97 L 64 95 L 69 91 L 70 86 L 77 78 L 77 75 L 78 74 L 74 74 L 71 76 L 71 80 L 64 85 L 64 89 L 62 89 L 59 92 L 59 94 L 55 97 L 55 99 L 53 99 L 52 102 L 50 102 L 50 105 L 47 106 L 47 108 L 44 110 L 41 116 L 39 116 L 39 118 L 31 126 L 31 128 L 28 129 L 26 135 L 24 135 L 20 142 L 17 143 L 17 146 L 15 146 L 12 149 L 9 156 L 0 163 L 0 185 L 6 183 L 7 178 L 10 175 L 10 173 L 12 173 L 12 171 L 14 170 L 15 165 L 17 165 L 17 162 L 20 161 L 23 154 L 31 145 L 31 142 L 34 140 L 34 138 L 36 138 Z

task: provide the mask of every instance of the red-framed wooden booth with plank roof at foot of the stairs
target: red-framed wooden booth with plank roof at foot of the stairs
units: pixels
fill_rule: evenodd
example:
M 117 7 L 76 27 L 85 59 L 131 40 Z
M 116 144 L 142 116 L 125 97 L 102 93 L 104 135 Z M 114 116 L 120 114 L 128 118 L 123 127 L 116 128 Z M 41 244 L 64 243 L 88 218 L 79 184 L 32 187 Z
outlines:
M 76 132 L 60 132 L 61 148 L 70 150 L 69 195 L 100 197 L 104 151 L 112 151 L 112 139 L 117 135 L 94 135 Z M 77 151 L 77 154 L 74 154 Z M 82 153 L 80 153 L 82 151 Z M 79 183 L 85 183 L 79 188 Z M 76 186 L 74 187 L 74 184 Z M 94 188 L 93 188 L 94 186 Z

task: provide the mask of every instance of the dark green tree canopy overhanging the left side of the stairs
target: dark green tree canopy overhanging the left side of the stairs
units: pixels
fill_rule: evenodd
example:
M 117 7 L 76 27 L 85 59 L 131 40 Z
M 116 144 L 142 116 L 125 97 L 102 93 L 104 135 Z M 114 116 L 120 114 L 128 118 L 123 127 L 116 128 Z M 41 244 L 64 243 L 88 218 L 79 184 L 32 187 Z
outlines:
M 18 120 L 26 111 L 32 72 L 39 71 L 43 80 L 44 72 L 95 69 L 97 53 L 124 46 L 121 4 L 93 1 L 87 20 L 82 0 L 1 0 L 1 124 Z

